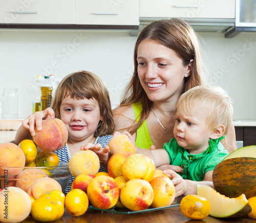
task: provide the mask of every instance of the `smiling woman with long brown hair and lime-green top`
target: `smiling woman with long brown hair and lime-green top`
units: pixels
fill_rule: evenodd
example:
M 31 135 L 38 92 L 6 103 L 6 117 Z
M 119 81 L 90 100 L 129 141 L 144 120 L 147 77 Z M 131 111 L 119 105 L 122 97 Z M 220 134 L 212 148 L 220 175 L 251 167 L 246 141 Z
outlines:
M 200 46 L 193 28 L 178 18 L 148 24 L 135 45 L 133 77 L 121 105 L 113 110 L 116 131 L 129 131 L 139 147 L 162 148 L 173 138 L 180 95 L 204 84 Z M 221 142 L 228 152 L 236 149 L 233 125 Z M 182 171 L 180 167 L 174 170 Z

